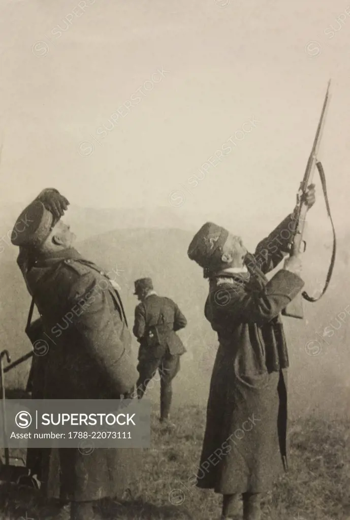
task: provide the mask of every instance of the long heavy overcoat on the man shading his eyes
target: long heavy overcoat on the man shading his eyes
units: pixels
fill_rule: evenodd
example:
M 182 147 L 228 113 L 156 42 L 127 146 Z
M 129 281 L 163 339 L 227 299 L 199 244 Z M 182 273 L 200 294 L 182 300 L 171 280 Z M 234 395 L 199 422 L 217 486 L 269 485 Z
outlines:
M 118 292 L 99 267 L 74 249 L 19 265 L 41 314 L 46 399 L 119 399 L 138 373 Z M 134 449 L 43 450 L 49 497 L 74 501 L 121 497 L 136 477 Z

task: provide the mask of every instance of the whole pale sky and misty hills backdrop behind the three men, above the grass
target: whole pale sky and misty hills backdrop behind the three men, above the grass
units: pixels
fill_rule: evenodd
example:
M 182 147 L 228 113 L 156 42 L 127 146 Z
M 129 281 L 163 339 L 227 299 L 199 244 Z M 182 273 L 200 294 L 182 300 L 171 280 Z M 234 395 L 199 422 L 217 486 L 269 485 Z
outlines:
M 284 323 L 290 416 L 349 418 L 350 5 L 3 0 L 0 41 L 2 348 L 12 359 L 30 348 L 10 230 L 24 205 L 55 187 L 71 202 L 64 219 L 77 249 L 116 270 L 129 324 L 133 281 L 144 276 L 186 315 L 174 399 L 202 408 L 217 340 L 188 244 L 211 220 L 253 251 L 293 210 L 332 79 L 318 158 L 338 235 L 334 275 L 320 302 L 305 303 L 303 321 Z M 303 267 L 314 296 L 332 245 L 316 186 Z M 28 368 L 8 383 L 23 386 Z M 151 396 L 158 403 L 158 383 Z

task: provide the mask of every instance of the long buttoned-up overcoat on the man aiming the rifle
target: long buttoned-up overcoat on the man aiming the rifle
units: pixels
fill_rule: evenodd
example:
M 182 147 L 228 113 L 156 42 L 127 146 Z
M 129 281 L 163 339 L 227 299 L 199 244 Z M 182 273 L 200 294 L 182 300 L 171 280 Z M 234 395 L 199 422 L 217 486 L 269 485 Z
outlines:
M 288 353 L 280 311 L 304 282 L 281 269 L 292 217 L 247 254 L 247 273 L 210 278 L 205 316 L 217 332 L 197 486 L 225 494 L 265 492 L 286 467 Z M 289 232 L 288 232 L 289 231 Z

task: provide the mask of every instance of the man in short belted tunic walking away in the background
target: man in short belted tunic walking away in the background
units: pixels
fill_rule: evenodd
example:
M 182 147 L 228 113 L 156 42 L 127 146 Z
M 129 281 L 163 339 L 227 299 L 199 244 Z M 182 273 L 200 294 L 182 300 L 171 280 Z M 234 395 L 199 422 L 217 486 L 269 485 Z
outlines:
M 170 418 L 172 380 L 180 370 L 180 356 L 186 349 L 176 331 L 186 327 L 187 320 L 176 303 L 153 290 L 150 278 L 135 281 L 140 303 L 135 308 L 133 332 L 140 348 L 138 354 L 139 379 L 137 397 L 142 398 L 157 369 L 160 374 L 160 421 Z

